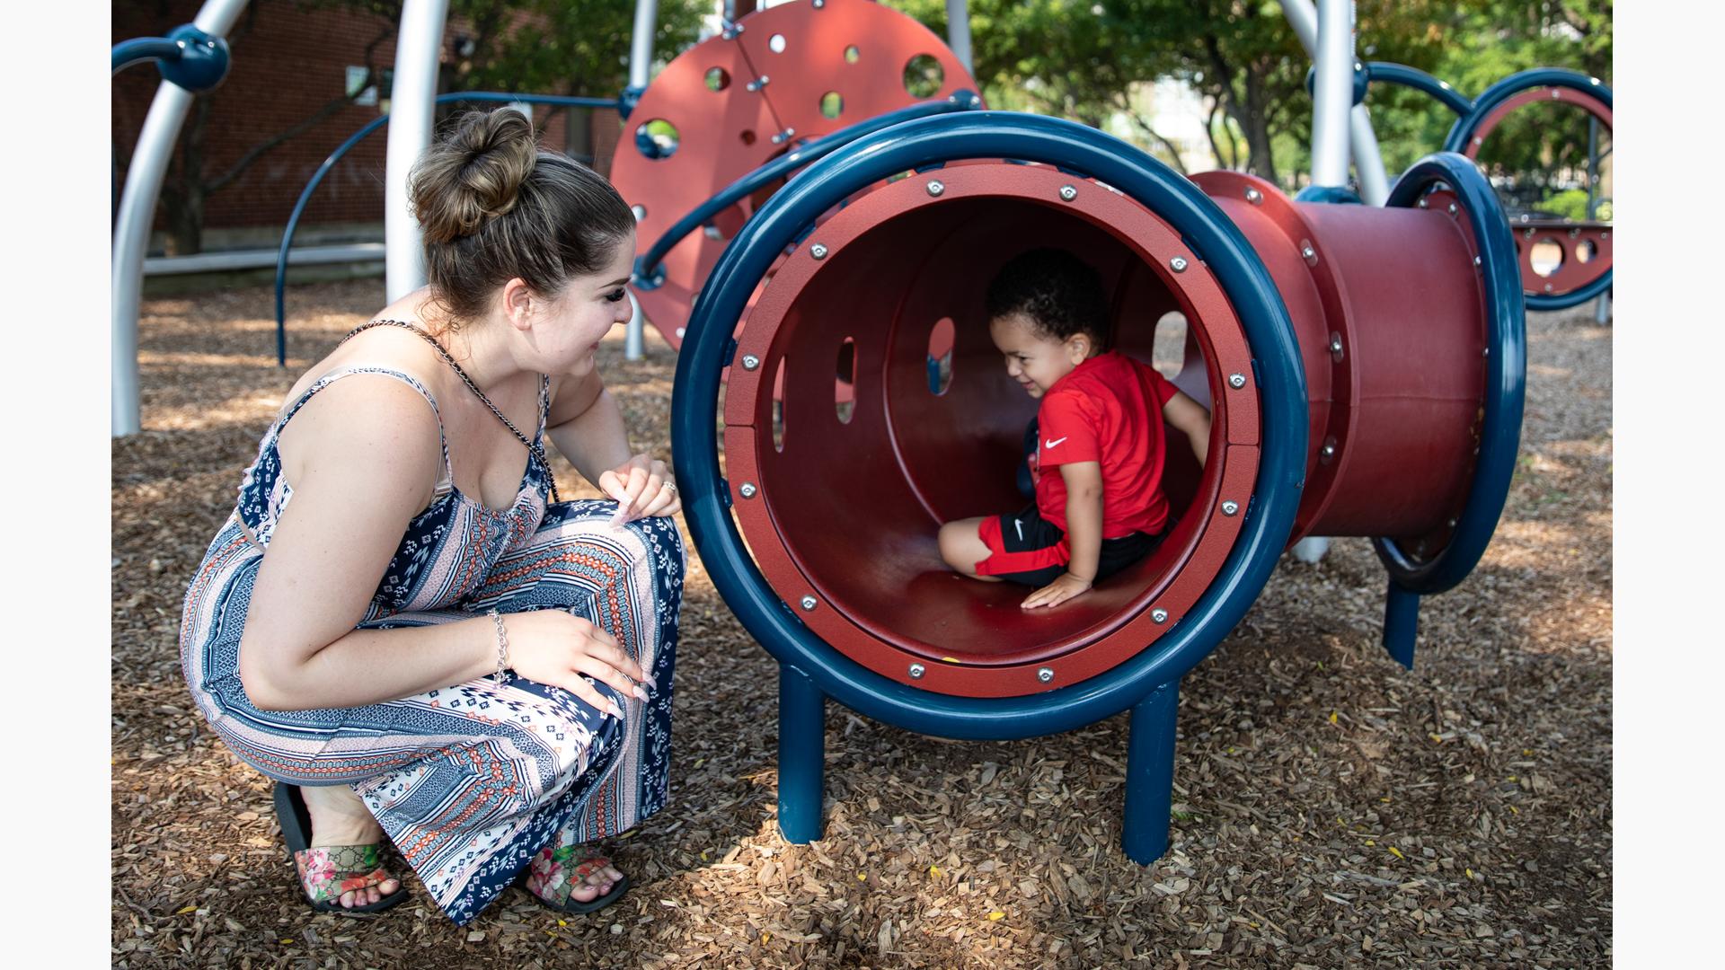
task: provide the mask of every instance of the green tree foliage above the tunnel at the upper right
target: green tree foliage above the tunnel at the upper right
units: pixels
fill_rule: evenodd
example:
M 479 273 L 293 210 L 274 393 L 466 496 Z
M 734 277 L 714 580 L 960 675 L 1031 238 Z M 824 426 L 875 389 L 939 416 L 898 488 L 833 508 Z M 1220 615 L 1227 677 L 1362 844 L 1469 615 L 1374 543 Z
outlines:
M 945 31 L 944 0 L 892 5 Z M 969 9 L 976 79 L 994 105 L 1088 124 L 1125 116 L 1140 145 L 1175 161 L 1130 93 L 1176 79 L 1209 105 L 1218 166 L 1290 186 L 1309 171 L 1311 59 L 1275 0 L 971 0 Z M 1356 19 L 1361 60 L 1408 64 L 1470 97 L 1537 66 L 1609 83 L 1609 0 L 1359 0 Z M 1425 95 L 1387 85 L 1375 85 L 1368 104 L 1392 173 L 1437 150 L 1454 121 Z M 1585 157 L 1585 117 L 1570 116 L 1511 116 L 1484 161 L 1573 166 L 1577 152 Z

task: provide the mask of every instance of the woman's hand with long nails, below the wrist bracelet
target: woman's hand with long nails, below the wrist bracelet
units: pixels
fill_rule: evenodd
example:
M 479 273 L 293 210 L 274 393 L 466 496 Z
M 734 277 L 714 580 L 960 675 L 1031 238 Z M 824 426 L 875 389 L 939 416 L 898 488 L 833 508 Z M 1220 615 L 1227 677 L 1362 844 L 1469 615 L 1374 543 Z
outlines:
M 561 609 L 509 613 L 502 616 L 509 632 L 509 666 L 538 683 L 562 687 L 600 713 L 621 720 L 623 709 L 600 694 L 588 677 L 647 701 L 649 687 L 657 687 L 647 673 L 618 646 L 616 637 L 590 620 Z M 585 677 L 583 677 L 585 675 Z

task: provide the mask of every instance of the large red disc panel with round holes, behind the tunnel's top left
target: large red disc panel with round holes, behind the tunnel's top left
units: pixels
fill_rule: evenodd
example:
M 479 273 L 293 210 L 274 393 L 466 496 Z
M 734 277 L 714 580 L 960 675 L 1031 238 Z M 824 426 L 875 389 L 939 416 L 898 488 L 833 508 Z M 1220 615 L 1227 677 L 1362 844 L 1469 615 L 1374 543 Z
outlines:
M 678 347 L 719 252 L 792 169 L 895 121 L 980 107 L 975 90 L 928 28 L 866 0 L 759 10 L 685 50 L 611 161 L 638 223 L 647 319 Z

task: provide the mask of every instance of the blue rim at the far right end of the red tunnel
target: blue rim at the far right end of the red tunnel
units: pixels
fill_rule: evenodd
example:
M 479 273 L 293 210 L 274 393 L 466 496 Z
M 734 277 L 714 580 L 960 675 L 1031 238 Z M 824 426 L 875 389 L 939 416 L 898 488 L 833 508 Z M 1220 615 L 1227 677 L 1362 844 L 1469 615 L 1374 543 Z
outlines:
M 1521 413 L 1527 402 L 1527 309 L 1521 299 L 1521 271 L 1509 223 L 1485 174 L 1466 155 L 1437 152 L 1414 162 L 1396 181 L 1385 207 L 1414 205 L 1437 183 L 1447 185 L 1468 212 L 1480 259 L 1487 328 L 1485 418 L 1480 421 L 1480 454 L 1473 466 L 1473 480 L 1468 483 L 1468 497 L 1461 514 L 1456 516 L 1449 544 L 1432 559 L 1416 563 L 1394 539 L 1371 540 L 1390 580 L 1416 594 L 1452 589 L 1485 554 L 1509 497 L 1509 480 L 1521 450 Z

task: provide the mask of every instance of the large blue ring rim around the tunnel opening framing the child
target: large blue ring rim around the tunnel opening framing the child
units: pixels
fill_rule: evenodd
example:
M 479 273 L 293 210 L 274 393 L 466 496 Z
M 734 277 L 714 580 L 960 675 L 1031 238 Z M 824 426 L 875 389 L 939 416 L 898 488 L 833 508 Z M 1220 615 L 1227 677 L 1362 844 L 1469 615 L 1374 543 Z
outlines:
M 731 331 L 773 259 L 814 217 L 869 185 L 961 159 L 1016 159 L 1083 173 L 1138 200 L 1206 259 L 1254 356 L 1263 435 L 1259 473 L 1221 571 L 1157 647 L 1078 683 L 1019 697 L 956 697 L 881 677 L 816 637 L 747 554 L 718 466 L 719 376 Z M 1240 621 L 1276 566 L 1304 485 L 1306 378 L 1289 311 L 1245 236 L 1194 183 L 1138 148 L 1076 123 L 1016 112 L 906 121 L 811 164 L 731 240 L 702 287 L 676 361 L 673 463 L 685 520 L 707 573 L 749 633 L 781 665 L 847 708 L 921 734 L 1011 740 L 1113 716 L 1175 683 Z

